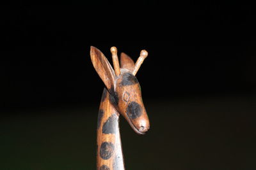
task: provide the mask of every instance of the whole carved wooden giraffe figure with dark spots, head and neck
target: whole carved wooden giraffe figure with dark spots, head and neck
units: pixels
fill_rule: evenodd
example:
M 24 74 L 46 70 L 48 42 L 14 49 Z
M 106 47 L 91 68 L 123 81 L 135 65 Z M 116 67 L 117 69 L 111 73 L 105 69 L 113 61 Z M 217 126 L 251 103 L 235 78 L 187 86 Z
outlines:
M 90 50 L 92 64 L 106 86 L 103 90 L 97 122 L 98 170 L 125 169 L 119 115 L 123 115 L 138 134 L 145 134 L 149 129 L 140 84 L 135 76 L 148 53 L 141 50 L 136 64 L 128 55 L 121 53 L 121 67 L 115 46 L 111 47 L 111 53 L 115 71 L 99 49 L 91 46 Z

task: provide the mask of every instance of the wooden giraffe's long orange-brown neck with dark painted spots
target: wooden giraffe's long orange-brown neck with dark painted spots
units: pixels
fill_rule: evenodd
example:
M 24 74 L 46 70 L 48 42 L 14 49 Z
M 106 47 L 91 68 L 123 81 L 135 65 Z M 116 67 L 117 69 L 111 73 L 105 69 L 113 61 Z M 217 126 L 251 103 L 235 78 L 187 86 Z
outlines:
M 104 89 L 97 124 L 97 169 L 124 170 L 119 113 L 109 101 L 110 97 Z

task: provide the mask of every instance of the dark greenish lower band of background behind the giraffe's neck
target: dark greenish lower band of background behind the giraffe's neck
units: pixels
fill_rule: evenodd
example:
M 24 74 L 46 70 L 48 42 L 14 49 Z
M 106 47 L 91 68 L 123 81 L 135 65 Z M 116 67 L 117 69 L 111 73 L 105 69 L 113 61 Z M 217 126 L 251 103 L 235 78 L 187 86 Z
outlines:
M 256 169 L 253 97 L 144 101 L 150 130 L 120 118 L 126 169 Z M 0 169 L 96 169 L 98 106 L 0 119 Z

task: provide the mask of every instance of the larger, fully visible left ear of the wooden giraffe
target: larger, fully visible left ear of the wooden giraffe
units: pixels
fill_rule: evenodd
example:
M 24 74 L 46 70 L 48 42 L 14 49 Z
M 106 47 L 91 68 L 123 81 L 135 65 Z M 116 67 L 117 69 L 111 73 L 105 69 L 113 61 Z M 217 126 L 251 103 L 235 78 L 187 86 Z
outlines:
M 112 66 L 108 62 L 108 59 L 106 59 L 105 55 L 94 46 L 91 46 L 90 55 L 93 67 L 99 74 L 103 83 L 106 85 L 108 89 L 114 87 L 116 76 Z

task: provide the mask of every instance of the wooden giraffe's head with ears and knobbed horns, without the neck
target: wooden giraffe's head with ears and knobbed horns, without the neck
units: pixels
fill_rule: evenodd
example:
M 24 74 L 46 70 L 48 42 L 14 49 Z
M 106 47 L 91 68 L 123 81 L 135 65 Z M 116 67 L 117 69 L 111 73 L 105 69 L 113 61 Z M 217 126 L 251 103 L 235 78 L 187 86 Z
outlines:
M 111 53 L 115 71 L 104 54 L 91 46 L 93 66 L 108 89 L 110 103 L 123 115 L 135 132 L 144 134 L 149 129 L 149 120 L 141 97 L 140 83 L 135 74 L 147 57 L 147 52 L 141 51 L 136 64 L 128 55 L 121 53 L 121 67 L 115 47 L 111 47 Z

